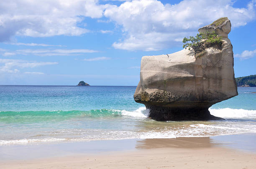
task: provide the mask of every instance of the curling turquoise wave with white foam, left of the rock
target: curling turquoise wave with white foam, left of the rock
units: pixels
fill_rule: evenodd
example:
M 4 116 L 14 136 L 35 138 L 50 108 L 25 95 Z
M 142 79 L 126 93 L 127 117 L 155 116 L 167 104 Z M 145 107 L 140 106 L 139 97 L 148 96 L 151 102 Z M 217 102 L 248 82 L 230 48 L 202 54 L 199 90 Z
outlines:
M 69 118 L 97 118 L 97 117 L 135 117 L 147 118 L 148 110 L 146 107 L 139 107 L 134 111 L 117 110 L 117 109 L 95 109 L 88 111 L 71 110 L 71 111 L 24 111 L 24 112 L 0 112 L 0 122 L 40 122 L 40 121 L 59 121 Z

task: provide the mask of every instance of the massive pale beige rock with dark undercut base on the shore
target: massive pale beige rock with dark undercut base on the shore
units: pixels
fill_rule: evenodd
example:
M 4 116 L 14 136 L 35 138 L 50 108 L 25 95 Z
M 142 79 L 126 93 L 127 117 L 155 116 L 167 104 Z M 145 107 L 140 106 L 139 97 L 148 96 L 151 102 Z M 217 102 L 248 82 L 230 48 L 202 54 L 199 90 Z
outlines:
M 159 121 L 220 119 L 212 116 L 208 108 L 238 95 L 233 47 L 228 39 L 230 20 L 217 21 L 199 32 L 216 32 L 222 37 L 221 49 L 208 47 L 197 58 L 188 49 L 142 57 L 134 100 L 150 109 L 149 117 Z

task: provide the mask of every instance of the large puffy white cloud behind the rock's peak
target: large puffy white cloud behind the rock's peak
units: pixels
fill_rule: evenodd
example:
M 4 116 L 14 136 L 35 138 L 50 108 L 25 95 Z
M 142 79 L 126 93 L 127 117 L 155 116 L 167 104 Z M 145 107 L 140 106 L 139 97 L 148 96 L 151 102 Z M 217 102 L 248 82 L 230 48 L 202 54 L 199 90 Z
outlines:
M 124 38 L 114 42 L 113 47 L 149 51 L 180 45 L 183 37 L 220 17 L 228 17 L 232 27 L 255 19 L 255 1 L 246 8 L 232 5 L 232 0 L 183 0 L 175 5 L 133 0 L 109 6 L 104 15 L 123 27 Z

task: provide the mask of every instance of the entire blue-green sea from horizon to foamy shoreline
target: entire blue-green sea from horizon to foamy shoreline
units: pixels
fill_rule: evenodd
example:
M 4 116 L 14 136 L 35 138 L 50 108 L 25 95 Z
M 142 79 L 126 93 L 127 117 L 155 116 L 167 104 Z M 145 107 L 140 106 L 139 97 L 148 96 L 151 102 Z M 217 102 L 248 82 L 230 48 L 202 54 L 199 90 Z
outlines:
M 136 86 L 0 85 L 0 146 L 256 133 L 256 87 L 210 107 L 217 121 L 148 119 Z

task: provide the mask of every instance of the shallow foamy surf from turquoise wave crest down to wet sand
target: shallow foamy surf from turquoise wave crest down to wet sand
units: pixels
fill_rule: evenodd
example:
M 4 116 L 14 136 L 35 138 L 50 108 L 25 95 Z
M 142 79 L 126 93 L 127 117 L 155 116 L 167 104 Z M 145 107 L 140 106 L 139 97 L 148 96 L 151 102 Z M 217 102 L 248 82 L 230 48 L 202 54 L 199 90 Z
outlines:
M 256 133 L 256 110 L 230 108 L 210 108 L 209 110 L 212 115 L 226 118 L 226 120 L 156 122 L 147 119 L 149 110 L 146 107 L 139 107 L 134 111 L 96 109 L 0 112 L 0 124 L 3 131 L 10 128 L 9 123 L 15 123 L 12 124 L 13 129 L 10 130 L 12 132 L 5 132 L 5 135 L 0 137 L 0 145 L 109 139 L 211 137 Z M 63 124 L 64 128 L 58 127 Z

